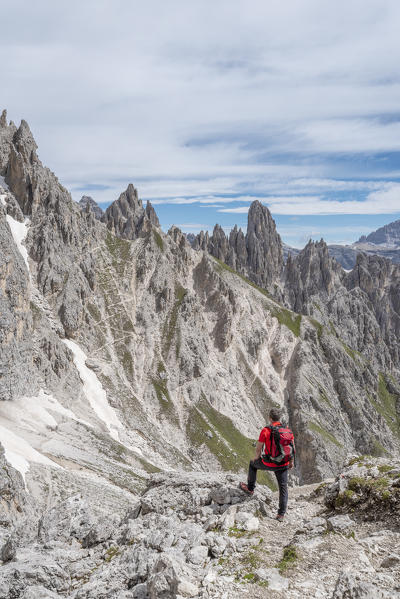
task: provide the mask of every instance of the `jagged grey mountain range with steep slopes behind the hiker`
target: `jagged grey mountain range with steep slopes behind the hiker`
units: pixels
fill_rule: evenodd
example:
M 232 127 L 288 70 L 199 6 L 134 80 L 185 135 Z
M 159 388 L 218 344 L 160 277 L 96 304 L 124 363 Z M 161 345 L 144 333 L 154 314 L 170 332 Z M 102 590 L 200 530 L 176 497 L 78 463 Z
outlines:
M 301 483 L 336 474 L 347 450 L 399 452 L 396 266 L 360 258 L 346 273 L 319 242 L 284 267 L 257 202 L 246 235 L 216 227 L 197 251 L 133 186 L 99 221 L 26 124 L 1 127 L 0 389 L 13 402 L 0 425 L 41 501 L 49 472 L 60 501 L 89 471 L 94 497 L 125 504 L 157 469 L 245 470 L 273 406 Z

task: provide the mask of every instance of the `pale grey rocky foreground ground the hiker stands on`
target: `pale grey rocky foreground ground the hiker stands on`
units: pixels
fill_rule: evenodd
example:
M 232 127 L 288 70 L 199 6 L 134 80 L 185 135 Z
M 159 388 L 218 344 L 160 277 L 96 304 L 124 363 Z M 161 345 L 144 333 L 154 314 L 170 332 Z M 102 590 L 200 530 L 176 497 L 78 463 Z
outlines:
M 159 473 L 121 515 L 79 495 L 37 526 L 30 513 L 3 536 L 0 597 L 400 597 L 400 463 L 353 458 L 333 482 L 292 487 L 283 523 L 276 493 L 238 482 Z

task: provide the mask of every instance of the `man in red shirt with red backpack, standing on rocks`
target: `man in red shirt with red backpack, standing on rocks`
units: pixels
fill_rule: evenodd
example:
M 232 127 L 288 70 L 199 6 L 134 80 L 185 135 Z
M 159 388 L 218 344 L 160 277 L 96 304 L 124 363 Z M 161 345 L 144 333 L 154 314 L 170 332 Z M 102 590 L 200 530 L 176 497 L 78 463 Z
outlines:
M 280 413 L 273 408 L 269 413 L 270 425 L 262 429 L 254 460 L 249 464 L 246 483 L 239 487 L 248 495 L 253 495 L 257 480 L 257 470 L 271 470 L 275 473 L 279 487 L 279 510 L 276 519 L 283 521 L 288 502 L 288 471 L 293 468 L 295 446 L 290 428 L 280 422 Z M 264 452 L 263 452 L 264 448 Z

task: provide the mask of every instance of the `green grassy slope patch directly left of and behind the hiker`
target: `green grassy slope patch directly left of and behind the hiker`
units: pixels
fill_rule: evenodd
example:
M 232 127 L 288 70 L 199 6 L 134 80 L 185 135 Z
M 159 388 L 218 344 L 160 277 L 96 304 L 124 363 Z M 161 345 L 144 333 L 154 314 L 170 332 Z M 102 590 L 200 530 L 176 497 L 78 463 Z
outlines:
M 215 410 L 204 396 L 189 414 L 186 434 L 195 447 L 204 443 L 224 470 L 246 470 L 254 457 L 252 439 L 239 432 L 232 420 Z M 275 482 L 268 472 L 260 471 L 257 481 L 276 490 Z

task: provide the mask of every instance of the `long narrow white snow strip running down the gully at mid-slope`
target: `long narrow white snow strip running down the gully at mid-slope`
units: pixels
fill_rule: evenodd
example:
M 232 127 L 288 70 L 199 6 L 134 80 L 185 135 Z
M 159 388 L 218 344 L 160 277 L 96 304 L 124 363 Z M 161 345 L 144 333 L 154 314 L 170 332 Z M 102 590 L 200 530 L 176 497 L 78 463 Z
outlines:
M 123 425 L 108 403 L 106 392 L 96 374 L 86 366 L 87 356 L 85 352 L 74 341 L 70 339 L 64 339 L 63 341 L 73 353 L 74 363 L 83 383 L 83 391 L 91 408 L 99 420 L 104 422 L 110 436 L 120 442 L 119 431 L 123 429 Z

